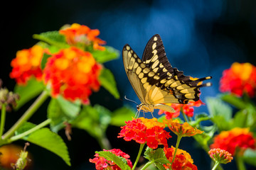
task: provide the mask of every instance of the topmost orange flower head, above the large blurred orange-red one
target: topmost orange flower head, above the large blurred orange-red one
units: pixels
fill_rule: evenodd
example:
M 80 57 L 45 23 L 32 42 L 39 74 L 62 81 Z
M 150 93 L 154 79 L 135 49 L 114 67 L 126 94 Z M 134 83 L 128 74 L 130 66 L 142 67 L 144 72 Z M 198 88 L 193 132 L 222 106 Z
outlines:
M 70 27 L 60 30 L 60 34 L 65 35 L 69 45 L 92 45 L 95 50 L 105 50 L 105 41 L 97 38 L 100 35 L 100 30 L 91 30 L 87 26 L 81 26 L 78 23 L 73 23 Z

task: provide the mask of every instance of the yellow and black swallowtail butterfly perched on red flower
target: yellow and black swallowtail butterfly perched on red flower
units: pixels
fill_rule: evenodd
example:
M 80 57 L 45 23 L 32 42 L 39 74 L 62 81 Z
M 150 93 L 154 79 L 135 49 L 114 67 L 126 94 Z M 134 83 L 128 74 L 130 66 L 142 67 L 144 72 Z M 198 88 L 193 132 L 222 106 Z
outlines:
M 124 69 L 139 100 L 138 111 L 151 112 L 154 109 L 175 112 L 164 103 L 182 103 L 198 101 L 202 81 L 212 77 L 195 79 L 171 67 L 166 57 L 163 42 L 158 34 L 147 42 L 142 60 L 128 44 L 122 50 Z

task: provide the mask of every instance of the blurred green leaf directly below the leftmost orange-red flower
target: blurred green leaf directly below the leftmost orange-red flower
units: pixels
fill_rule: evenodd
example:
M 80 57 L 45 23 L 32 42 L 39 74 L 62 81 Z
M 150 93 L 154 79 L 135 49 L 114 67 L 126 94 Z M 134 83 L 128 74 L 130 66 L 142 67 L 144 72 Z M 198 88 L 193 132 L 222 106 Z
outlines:
M 23 104 L 30 101 L 32 98 L 38 96 L 43 89 L 45 89 L 45 86 L 43 85 L 42 81 L 37 81 L 34 78 L 31 78 L 26 86 L 16 86 L 14 87 L 14 93 L 18 94 L 20 96 L 20 99 L 17 102 L 16 109 L 21 108 Z

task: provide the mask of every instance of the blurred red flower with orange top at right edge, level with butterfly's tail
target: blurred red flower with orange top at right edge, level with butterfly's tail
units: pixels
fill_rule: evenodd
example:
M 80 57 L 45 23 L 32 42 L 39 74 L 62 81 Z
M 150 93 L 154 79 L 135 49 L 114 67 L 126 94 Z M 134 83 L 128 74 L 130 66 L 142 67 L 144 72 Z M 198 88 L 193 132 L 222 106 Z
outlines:
M 255 96 L 256 67 L 250 63 L 235 62 L 230 69 L 225 69 L 220 79 L 220 91 L 230 91 L 242 96 L 243 93 L 250 97 Z

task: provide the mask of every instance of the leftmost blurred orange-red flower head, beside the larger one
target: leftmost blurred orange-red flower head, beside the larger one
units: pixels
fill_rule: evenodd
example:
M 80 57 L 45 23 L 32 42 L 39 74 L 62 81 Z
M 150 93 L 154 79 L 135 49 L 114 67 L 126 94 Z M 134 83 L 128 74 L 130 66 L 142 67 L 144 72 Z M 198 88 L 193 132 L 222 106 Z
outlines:
M 17 84 L 26 84 L 31 77 L 41 80 L 40 64 L 42 57 L 43 48 L 39 45 L 18 51 L 16 58 L 11 61 L 11 67 L 13 67 L 10 73 L 11 79 L 16 79 Z

